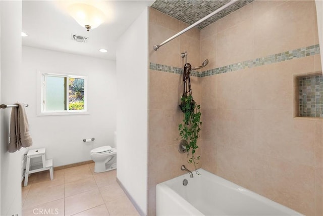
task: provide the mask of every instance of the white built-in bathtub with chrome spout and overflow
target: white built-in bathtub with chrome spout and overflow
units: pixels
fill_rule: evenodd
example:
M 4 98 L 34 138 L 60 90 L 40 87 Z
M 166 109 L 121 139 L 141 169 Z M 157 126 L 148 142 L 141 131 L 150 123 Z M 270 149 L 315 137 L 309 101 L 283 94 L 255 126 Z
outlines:
M 157 215 L 303 215 L 239 185 L 198 169 L 156 186 Z M 188 180 L 187 186 L 183 180 Z

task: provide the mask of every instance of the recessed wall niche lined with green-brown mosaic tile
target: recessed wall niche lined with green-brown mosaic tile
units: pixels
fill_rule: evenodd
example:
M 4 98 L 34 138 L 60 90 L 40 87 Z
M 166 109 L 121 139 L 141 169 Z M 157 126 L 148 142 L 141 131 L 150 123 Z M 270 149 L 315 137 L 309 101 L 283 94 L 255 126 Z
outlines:
M 323 117 L 322 73 L 298 77 L 298 116 Z

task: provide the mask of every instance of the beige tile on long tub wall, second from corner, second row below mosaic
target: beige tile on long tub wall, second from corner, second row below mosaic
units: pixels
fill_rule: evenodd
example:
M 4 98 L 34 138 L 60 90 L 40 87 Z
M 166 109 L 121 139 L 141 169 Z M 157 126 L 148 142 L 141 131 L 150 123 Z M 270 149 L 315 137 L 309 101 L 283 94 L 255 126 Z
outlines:
M 243 149 L 245 151 L 253 151 L 253 125 L 253 110 L 218 109 L 216 133 L 217 145 Z

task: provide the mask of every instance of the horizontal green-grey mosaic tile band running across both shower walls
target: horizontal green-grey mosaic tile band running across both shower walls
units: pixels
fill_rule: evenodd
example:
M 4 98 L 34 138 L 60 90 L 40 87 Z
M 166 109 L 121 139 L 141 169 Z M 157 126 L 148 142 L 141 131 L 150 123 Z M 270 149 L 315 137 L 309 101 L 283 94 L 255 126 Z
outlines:
M 288 61 L 288 60 L 292 60 L 292 59 L 313 56 L 313 55 L 317 55 L 317 54 L 319 54 L 319 45 L 312 45 L 312 46 L 305 47 L 305 48 L 299 48 L 299 49 L 295 49 L 295 50 L 285 51 L 282 53 L 268 55 L 268 56 L 256 58 L 253 60 L 238 62 L 235 64 L 230 64 L 227 66 L 218 67 L 218 68 L 214 68 L 214 69 L 210 69 L 210 70 L 206 70 L 206 71 L 202 71 L 202 72 L 191 71 L 191 76 L 197 76 L 197 77 L 212 76 L 212 75 L 217 75 L 217 74 L 221 74 L 221 73 L 237 71 L 237 70 L 241 70 L 241 69 L 258 67 L 261 65 L 274 64 L 274 63 Z M 172 67 L 172 66 L 168 66 L 168 65 L 155 64 L 152 62 L 150 62 L 150 64 L 149 64 L 149 69 L 163 71 L 163 72 L 169 72 L 169 73 L 183 74 L 182 68 Z

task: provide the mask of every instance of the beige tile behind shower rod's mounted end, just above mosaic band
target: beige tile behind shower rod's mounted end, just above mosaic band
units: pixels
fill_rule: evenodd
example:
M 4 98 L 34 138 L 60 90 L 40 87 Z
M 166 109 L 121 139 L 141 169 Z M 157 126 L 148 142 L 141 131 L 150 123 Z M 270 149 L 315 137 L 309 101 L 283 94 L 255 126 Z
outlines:
M 163 26 L 152 23 L 149 24 L 149 62 L 170 65 L 173 67 L 182 66 L 179 37 L 168 42 L 157 51 L 153 50 L 154 45 L 159 45 L 161 42 L 167 40 L 176 33 L 176 31 L 170 30 Z

